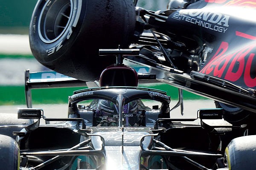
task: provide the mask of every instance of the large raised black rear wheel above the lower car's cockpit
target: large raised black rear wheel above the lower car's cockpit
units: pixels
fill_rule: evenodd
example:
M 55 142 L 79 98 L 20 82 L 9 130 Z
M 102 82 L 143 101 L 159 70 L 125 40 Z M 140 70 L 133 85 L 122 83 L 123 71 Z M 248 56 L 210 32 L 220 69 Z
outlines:
M 38 0 L 29 42 L 32 54 L 47 68 L 94 81 L 116 61 L 99 57 L 99 48 L 128 48 L 134 28 L 132 0 Z

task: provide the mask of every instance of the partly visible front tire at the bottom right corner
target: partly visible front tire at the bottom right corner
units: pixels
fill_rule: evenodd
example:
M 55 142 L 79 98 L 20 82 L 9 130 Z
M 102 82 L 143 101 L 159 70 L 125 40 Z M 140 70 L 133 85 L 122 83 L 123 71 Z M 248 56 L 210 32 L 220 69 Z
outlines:
M 233 139 L 225 150 L 226 164 L 231 170 L 255 170 L 256 136 Z

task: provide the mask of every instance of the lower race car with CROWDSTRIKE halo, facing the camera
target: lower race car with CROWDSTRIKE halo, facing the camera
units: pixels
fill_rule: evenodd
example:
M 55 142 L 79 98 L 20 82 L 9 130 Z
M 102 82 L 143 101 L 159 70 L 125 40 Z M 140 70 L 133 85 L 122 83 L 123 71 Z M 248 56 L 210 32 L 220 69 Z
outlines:
M 38 81 L 30 78 L 36 77 L 33 74 L 42 73 L 26 71 L 28 106 L 32 105 L 33 88 L 86 84 L 64 76 Z M 247 166 L 233 158 L 244 160 L 243 154 L 252 152 L 254 138 L 245 145 L 243 137 L 232 136 L 232 130 L 244 132 L 246 125 L 208 125 L 204 120 L 223 119 L 221 108 L 199 108 L 196 119 L 172 119 L 170 96 L 165 91 L 138 87 L 142 79 L 155 81 L 155 75 L 137 74 L 134 68 L 116 63 L 102 72 L 99 87 L 74 91 L 69 96 L 67 118 L 47 118 L 43 109 L 20 108 L 18 118 L 29 120 L 29 125 L 18 124 L 13 117 L 9 121 L 16 125 L 2 124 L 1 130 L 8 129 L 7 135 L 9 132 L 9 136 L 0 135 L 0 151 L 4 155 L 0 161 L 5 162 L 2 169 L 220 170 Z M 45 124 L 40 123 L 42 119 Z M 200 124 L 186 123 L 195 120 Z M 14 131 L 15 128 L 20 130 Z M 243 151 L 236 148 L 241 145 L 246 147 Z M 253 156 L 246 159 L 252 160 Z

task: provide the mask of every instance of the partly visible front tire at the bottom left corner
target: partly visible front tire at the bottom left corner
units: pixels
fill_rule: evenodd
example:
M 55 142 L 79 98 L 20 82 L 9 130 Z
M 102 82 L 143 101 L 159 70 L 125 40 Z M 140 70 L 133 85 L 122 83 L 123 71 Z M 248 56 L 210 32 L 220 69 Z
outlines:
M 19 169 L 20 150 L 10 136 L 0 135 L 0 170 Z

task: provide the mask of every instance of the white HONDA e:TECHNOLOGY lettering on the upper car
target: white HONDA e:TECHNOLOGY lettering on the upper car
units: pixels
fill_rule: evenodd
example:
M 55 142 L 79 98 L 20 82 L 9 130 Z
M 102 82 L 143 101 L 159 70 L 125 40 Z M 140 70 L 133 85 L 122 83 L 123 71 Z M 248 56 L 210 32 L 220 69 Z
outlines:
M 172 18 L 192 23 L 212 31 L 225 33 L 229 27 L 230 16 L 209 11 L 180 10 L 180 12 L 175 13 Z

